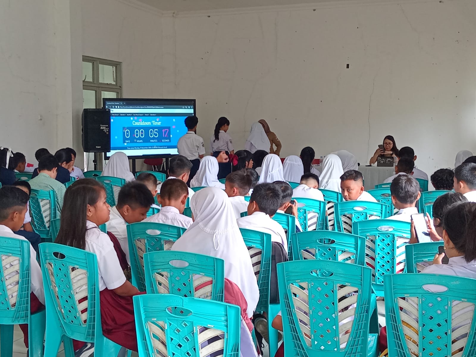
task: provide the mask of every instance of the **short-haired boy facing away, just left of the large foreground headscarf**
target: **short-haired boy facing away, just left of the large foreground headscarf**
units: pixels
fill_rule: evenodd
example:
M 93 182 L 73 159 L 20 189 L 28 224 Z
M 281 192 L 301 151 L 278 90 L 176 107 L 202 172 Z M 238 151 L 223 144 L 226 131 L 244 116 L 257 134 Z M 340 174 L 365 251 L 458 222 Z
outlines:
M 160 188 L 162 208 L 144 222 L 164 223 L 171 226 L 188 228 L 193 223 L 192 218 L 184 216 L 185 203 L 188 198 L 188 187 L 178 178 L 165 180 Z

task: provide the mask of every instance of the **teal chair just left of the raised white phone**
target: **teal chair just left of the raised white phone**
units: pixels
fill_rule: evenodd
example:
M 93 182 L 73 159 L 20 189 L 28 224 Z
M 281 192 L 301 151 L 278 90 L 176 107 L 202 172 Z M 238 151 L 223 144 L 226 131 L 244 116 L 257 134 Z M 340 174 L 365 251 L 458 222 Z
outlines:
M 372 269 L 372 287 L 377 296 L 383 296 L 384 276 L 405 271 L 405 246 L 410 240 L 410 223 L 370 219 L 355 222 L 353 232 L 366 239 L 365 262 Z

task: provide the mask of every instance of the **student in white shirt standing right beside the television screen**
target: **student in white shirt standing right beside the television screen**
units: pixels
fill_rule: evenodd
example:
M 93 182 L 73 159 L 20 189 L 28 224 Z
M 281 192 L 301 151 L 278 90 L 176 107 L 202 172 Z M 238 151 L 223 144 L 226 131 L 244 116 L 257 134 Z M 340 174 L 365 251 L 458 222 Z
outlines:
M 205 144 L 203 143 L 203 138 L 197 135 L 197 125 L 197 117 L 185 118 L 185 126 L 188 131 L 177 142 L 178 154 L 185 156 L 192 163 L 188 182 L 194 178 L 200 165 L 200 159 L 205 155 Z

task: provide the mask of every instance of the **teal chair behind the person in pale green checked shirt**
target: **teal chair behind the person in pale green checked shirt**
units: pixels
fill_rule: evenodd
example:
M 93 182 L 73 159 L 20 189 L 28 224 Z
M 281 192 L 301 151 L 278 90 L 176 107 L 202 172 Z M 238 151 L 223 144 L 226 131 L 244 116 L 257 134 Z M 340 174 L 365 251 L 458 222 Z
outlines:
M 50 222 L 56 219 L 56 193 L 32 189 L 30 194 L 31 227 L 43 241 L 51 241 Z

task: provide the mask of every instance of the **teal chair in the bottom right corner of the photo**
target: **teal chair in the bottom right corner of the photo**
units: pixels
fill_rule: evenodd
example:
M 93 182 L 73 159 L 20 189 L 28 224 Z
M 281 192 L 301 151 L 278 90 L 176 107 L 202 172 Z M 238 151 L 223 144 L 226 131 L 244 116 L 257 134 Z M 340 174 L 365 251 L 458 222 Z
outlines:
M 389 357 L 475 356 L 475 279 L 390 274 L 384 285 Z

